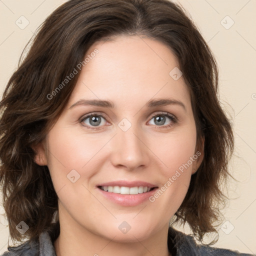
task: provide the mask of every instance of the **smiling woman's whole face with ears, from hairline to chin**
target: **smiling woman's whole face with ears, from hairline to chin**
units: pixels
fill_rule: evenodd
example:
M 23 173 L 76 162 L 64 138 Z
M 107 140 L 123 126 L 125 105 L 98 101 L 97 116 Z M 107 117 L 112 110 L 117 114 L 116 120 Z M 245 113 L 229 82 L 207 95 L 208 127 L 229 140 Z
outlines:
M 49 168 L 66 231 L 143 240 L 168 226 L 202 159 L 189 92 L 156 40 L 117 36 L 88 54 L 36 161 Z

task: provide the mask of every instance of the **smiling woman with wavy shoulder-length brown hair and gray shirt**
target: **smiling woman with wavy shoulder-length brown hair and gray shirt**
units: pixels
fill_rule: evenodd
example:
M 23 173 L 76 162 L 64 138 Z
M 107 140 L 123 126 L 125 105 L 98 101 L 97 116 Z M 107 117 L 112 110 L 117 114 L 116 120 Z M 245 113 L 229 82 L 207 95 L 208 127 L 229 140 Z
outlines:
M 0 102 L 3 206 L 27 239 L 3 255 L 236 255 L 195 243 L 216 232 L 233 150 L 217 80 L 172 2 L 57 8 Z

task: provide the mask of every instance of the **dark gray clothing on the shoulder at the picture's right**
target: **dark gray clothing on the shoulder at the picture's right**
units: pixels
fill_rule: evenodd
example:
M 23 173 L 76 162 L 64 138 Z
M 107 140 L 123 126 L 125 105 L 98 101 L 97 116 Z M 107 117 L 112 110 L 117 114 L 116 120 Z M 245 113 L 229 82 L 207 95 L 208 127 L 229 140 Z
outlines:
M 251 256 L 252 254 L 240 253 L 235 250 L 216 248 L 206 245 L 199 245 L 192 236 L 186 235 L 173 228 L 168 231 L 168 246 L 174 244 L 176 256 Z

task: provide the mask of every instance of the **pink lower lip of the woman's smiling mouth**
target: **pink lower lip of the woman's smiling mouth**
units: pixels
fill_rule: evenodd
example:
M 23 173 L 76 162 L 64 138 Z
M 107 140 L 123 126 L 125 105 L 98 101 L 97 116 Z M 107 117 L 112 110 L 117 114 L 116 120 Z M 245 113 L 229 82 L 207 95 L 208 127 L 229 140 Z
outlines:
M 151 191 L 148 191 L 145 193 L 139 193 L 139 194 L 118 194 L 118 193 L 104 191 L 99 187 L 97 187 L 97 189 L 101 192 L 101 194 L 105 198 L 109 199 L 114 203 L 120 204 L 122 206 L 135 206 L 148 200 L 149 196 L 155 193 L 157 187 L 155 187 Z

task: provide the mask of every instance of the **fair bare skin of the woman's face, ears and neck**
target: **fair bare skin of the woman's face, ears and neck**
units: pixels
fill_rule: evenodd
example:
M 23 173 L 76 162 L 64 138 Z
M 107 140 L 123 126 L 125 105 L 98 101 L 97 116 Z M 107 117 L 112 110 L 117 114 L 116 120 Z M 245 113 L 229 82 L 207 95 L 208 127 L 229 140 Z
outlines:
M 188 88 L 182 76 L 175 81 L 169 75 L 178 67 L 177 59 L 161 42 L 141 38 L 116 36 L 90 47 L 87 53 L 95 48 L 99 52 L 82 68 L 65 109 L 37 145 L 35 161 L 48 166 L 58 195 L 57 256 L 168 255 L 168 222 L 184 199 L 202 150 L 154 202 L 119 205 L 96 187 L 114 180 L 143 180 L 161 187 L 198 150 Z M 148 100 L 160 98 L 179 100 L 185 109 L 178 104 L 146 107 Z M 80 99 L 111 100 L 115 107 L 69 109 Z M 157 125 L 153 115 L 162 116 L 162 111 L 177 122 L 166 117 Z M 92 112 L 103 116 L 98 126 L 89 118 L 79 121 Z M 123 118 L 131 124 L 127 131 L 118 126 Z M 74 183 L 67 178 L 72 169 L 80 175 Z M 125 234 L 118 228 L 123 221 L 131 226 Z

